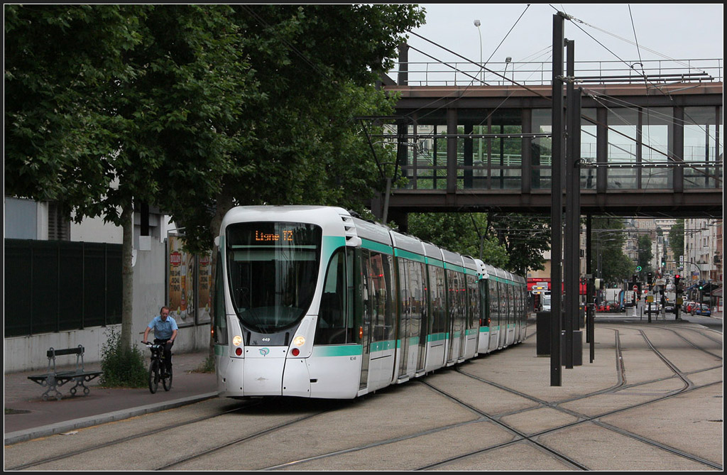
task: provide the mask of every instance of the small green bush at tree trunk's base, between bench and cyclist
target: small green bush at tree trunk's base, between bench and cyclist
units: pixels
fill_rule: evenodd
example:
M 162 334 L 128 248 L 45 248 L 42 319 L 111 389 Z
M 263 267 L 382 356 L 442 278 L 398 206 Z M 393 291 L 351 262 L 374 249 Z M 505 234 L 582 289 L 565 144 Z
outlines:
M 121 334 L 115 332 L 113 327 L 106 335 L 106 343 L 101 347 L 101 384 L 109 387 L 145 387 L 148 376 L 145 354 L 136 345 L 124 348 Z

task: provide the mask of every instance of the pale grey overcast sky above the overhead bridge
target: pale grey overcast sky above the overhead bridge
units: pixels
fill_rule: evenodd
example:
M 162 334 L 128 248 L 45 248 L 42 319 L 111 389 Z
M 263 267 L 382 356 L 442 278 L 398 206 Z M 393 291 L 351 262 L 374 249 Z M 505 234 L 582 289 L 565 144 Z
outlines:
M 427 23 L 416 28 L 414 33 L 475 62 L 479 62 L 480 57 L 483 61 L 491 58 L 489 61 L 495 63 L 503 63 L 506 57 L 511 57 L 513 63 L 550 62 L 556 9 L 584 22 L 565 23 L 566 39 L 574 40 L 576 61 L 623 60 L 634 63 L 664 58 L 724 57 L 723 4 L 420 6 L 427 12 Z M 479 32 L 475 20 L 481 22 Z M 638 48 L 635 43 L 638 43 Z M 409 44 L 440 61 L 464 61 L 413 34 L 409 35 Z M 435 60 L 410 49 L 409 62 L 419 61 Z

